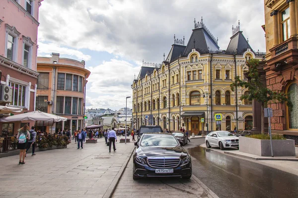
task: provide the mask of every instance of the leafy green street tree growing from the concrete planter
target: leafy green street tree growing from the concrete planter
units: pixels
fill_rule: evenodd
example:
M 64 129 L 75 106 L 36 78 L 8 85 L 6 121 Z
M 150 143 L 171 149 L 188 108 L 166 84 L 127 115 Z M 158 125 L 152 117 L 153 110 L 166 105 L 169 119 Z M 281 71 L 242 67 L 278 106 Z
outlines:
M 260 75 L 258 73 L 259 60 L 258 59 L 250 59 L 247 62 L 248 72 L 246 75 L 248 76 L 248 81 L 240 80 L 239 76 L 235 77 L 235 81 L 230 85 L 231 90 L 234 92 L 237 87 L 247 88 L 249 91 L 248 95 L 242 95 L 240 99 L 248 99 L 260 102 L 262 104 L 261 109 L 261 133 L 264 133 L 264 106 L 267 105 L 268 102 L 286 102 L 288 107 L 292 109 L 293 104 L 291 100 L 288 99 L 285 93 L 278 93 L 268 89 L 266 86 L 263 86 L 261 83 Z M 237 91 L 237 90 L 236 90 Z

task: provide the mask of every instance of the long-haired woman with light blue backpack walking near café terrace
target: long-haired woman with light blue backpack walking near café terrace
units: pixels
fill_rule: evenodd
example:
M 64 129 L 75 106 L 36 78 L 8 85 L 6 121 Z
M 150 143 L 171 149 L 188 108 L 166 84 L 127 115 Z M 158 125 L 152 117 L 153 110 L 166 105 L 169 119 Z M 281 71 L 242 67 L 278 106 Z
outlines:
M 26 155 L 26 146 L 28 144 L 28 140 L 30 140 L 29 126 L 24 125 L 20 128 L 16 139 L 18 140 L 17 149 L 20 149 L 20 161 L 19 164 L 25 163 L 25 155 Z M 22 160 L 23 158 L 23 160 Z

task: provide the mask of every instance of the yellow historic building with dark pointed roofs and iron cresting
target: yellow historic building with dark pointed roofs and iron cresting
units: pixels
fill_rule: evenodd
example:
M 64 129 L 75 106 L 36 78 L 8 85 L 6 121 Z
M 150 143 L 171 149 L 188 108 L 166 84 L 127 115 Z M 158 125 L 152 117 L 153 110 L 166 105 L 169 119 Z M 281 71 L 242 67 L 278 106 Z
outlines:
M 255 52 L 240 31 L 240 23 L 232 28 L 226 50 L 203 23 L 195 28 L 184 45 L 176 39 L 160 65 L 143 64 L 133 81 L 133 123 L 160 125 L 177 131 L 180 127 L 201 134 L 202 131 L 252 128 L 252 102 L 240 100 L 246 89 L 232 92 L 235 76 L 246 80 L 246 60 L 263 59 L 265 53 Z M 216 114 L 222 120 L 216 121 Z M 202 120 L 204 118 L 204 120 Z

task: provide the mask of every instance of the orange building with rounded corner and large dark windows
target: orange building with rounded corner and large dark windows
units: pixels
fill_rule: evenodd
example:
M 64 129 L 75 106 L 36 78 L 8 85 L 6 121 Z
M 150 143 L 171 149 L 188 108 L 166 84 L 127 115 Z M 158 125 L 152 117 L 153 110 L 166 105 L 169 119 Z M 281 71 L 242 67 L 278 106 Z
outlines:
M 37 57 L 36 109 L 53 113 L 68 120 L 65 122 L 40 123 L 47 126 L 50 133 L 59 129 L 74 130 L 84 127 L 85 86 L 90 71 L 85 69 L 85 62 L 59 57 Z

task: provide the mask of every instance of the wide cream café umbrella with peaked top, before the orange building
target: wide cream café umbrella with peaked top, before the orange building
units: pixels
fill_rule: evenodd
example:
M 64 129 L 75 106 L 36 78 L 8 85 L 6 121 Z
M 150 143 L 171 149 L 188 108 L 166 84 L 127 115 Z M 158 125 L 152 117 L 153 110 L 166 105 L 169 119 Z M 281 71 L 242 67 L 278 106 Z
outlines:
M 1 118 L 0 122 L 17 122 L 17 121 L 45 121 L 45 122 L 60 122 L 67 121 L 67 118 L 60 117 L 58 115 L 44 113 L 41 111 L 31 111 L 28 113 L 22 113 L 18 115 L 12 115 L 5 118 Z

